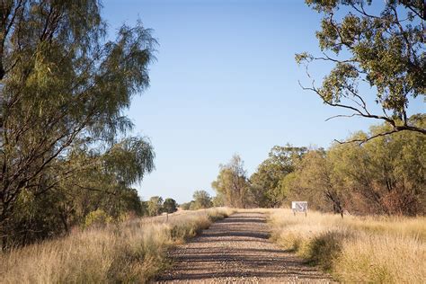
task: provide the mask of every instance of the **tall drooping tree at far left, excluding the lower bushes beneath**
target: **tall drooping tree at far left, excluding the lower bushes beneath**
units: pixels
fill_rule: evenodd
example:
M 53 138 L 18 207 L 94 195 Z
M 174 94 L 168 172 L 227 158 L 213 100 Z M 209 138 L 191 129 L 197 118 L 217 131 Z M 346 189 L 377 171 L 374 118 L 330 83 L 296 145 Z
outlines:
M 0 5 L 2 231 L 22 192 L 45 194 L 78 172 L 67 162 L 75 141 L 111 145 L 132 127 L 123 110 L 148 86 L 155 40 L 140 22 L 107 40 L 100 9 L 96 0 Z

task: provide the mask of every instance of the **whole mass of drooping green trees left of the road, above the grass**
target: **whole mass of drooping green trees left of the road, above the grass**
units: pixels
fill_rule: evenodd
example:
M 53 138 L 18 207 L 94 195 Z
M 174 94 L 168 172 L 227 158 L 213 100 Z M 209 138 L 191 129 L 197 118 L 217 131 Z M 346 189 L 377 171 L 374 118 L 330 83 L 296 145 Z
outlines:
M 139 210 L 129 187 L 154 169 L 154 152 L 123 136 L 122 113 L 149 84 L 155 40 L 140 22 L 107 40 L 100 10 L 96 0 L 2 5 L 3 248 L 60 235 L 96 209 Z

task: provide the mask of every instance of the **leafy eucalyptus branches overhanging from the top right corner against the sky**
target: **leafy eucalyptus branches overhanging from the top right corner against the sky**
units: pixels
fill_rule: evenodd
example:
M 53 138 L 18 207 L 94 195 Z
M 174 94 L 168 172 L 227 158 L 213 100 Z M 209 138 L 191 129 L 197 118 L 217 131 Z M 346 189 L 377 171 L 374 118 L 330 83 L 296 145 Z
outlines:
M 426 129 L 413 125 L 407 114 L 409 103 L 426 93 L 426 3 L 381 1 L 379 13 L 371 0 L 306 0 L 306 4 L 323 15 L 316 32 L 323 54 L 297 54 L 297 63 L 306 64 L 308 75 L 313 62 L 333 68 L 321 86 L 313 80 L 303 88 L 345 110 L 336 117 L 383 120 L 391 126 L 360 142 L 403 130 L 426 135 Z M 374 102 L 380 111 L 373 111 Z

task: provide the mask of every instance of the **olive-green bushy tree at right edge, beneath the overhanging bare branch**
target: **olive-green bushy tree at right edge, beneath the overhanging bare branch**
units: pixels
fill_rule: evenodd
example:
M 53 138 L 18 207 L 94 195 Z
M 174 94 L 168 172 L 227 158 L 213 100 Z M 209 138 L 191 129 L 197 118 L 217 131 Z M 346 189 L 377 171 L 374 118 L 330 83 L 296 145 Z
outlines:
M 418 127 L 422 121 L 412 122 Z M 362 139 L 388 131 L 391 127 L 372 127 L 351 139 Z M 364 213 L 388 215 L 424 214 L 426 209 L 426 137 L 417 132 L 399 132 L 358 144 L 336 144 L 330 149 L 334 175 L 343 181 L 345 191 L 360 200 Z M 349 195 L 348 195 L 349 196 Z

